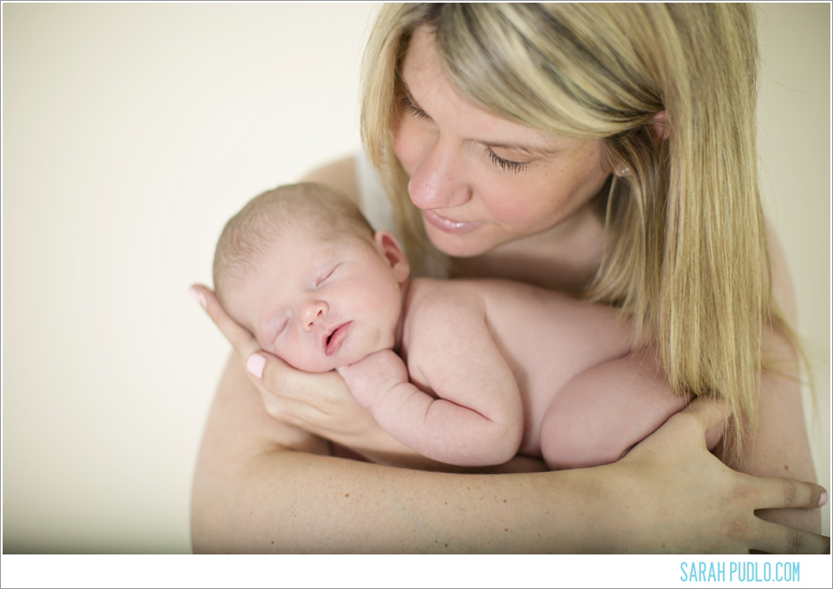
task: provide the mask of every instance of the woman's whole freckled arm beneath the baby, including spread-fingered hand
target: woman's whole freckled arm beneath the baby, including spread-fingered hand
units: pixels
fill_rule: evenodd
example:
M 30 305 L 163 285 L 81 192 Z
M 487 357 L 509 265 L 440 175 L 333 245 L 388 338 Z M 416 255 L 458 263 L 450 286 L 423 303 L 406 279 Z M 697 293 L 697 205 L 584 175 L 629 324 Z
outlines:
M 733 472 L 705 449 L 700 403 L 596 469 L 458 475 L 323 455 L 320 438 L 262 409 L 232 357 L 194 477 L 195 552 L 827 552 L 829 539 L 755 517 L 814 507 L 821 488 Z M 650 525 L 646 525 L 650 522 Z

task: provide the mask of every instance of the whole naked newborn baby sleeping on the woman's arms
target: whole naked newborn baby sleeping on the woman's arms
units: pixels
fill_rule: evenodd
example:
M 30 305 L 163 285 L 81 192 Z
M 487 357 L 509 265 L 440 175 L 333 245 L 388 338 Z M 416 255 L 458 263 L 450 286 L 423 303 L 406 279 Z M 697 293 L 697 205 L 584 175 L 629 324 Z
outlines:
M 214 288 L 263 350 L 338 370 L 379 425 L 436 461 L 617 461 L 687 403 L 615 310 L 522 283 L 410 278 L 394 236 L 318 184 L 245 205 L 217 244 Z

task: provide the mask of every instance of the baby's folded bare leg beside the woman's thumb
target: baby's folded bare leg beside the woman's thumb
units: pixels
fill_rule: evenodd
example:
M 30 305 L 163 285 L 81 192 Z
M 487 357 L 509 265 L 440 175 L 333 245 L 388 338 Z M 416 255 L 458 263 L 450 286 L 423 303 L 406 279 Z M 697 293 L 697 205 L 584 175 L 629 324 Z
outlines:
M 541 453 L 554 470 L 618 461 L 687 403 L 648 351 L 604 362 L 558 391 L 541 422 Z M 710 432 L 709 447 L 719 438 Z

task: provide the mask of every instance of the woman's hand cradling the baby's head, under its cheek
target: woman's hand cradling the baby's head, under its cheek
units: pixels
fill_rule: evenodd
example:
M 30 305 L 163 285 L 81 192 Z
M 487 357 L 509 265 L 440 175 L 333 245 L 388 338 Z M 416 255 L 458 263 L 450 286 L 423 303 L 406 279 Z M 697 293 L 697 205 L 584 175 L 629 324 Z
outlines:
M 257 340 L 223 310 L 214 292 L 195 284 L 191 296 L 245 362 L 269 415 L 316 436 L 347 446 L 371 461 L 397 466 L 425 466 L 419 454 L 391 437 L 350 394 L 332 370 L 311 374 L 296 370 L 263 352 Z

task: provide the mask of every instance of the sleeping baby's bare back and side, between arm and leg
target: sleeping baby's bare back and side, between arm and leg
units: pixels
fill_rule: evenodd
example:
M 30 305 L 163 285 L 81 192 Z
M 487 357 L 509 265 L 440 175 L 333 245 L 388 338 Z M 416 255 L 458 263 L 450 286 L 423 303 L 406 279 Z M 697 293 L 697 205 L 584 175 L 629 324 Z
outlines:
M 518 382 L 525 421 L 521 453 L 540 455 L 541 420 L 564 384 L 630 352 L 631 326 L 614 310 L 500 280 L 414 280 L 407 332 L 418 329 L 414 320 L 424 309 L 421 302 L 437 294 L 482 310 Z

